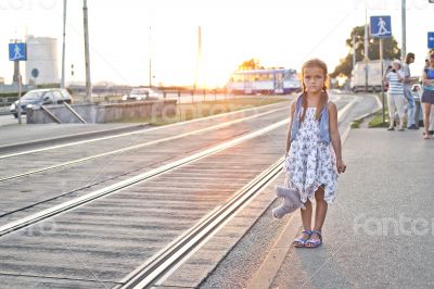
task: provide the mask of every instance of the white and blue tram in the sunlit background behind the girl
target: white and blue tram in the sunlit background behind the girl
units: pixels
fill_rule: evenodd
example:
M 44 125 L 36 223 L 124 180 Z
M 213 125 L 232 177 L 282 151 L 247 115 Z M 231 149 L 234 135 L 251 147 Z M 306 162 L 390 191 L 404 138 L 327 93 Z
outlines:
M 229 79 L 228 89 L 235 95 L 284 95 L 302 91 L 296 71 L 288 68 L 235 71 Z

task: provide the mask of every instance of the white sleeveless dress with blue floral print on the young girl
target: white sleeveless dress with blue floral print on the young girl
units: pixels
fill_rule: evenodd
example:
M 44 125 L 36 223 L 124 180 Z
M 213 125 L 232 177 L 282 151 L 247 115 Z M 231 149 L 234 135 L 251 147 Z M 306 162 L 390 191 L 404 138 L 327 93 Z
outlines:
M 307 108 L 290 153 L 284 162 L 285 185 L 299 191 L 302 202 L 315 199 L 319 186 L 324 188 L 324 200 L 333 203 L 336 197 L 336 156 L 331 143 L 319 142 L 319 122 L 316 108 Z

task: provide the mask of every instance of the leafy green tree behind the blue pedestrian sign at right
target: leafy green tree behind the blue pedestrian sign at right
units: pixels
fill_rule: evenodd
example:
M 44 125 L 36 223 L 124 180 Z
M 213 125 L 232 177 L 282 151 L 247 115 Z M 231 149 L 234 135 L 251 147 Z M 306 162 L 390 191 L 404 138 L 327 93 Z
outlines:
M 340 64 L 334 68 L 334 72 L 330 74 L 331 77 L 336 77 L 340 74 L 344 74 L 347 77 L 352 74 L 353 70 L 353 35 L 356 36 L 356 62 L 365 59 L 365 25 L 356 26 L 353 28 L 349 38 L 346 39 L 346 46 L 349 47 L 348 54 L 341 59 Z M 380 39 L 369 38 L 368 58 L 370 60 L 380 59 Z M 400 49 L 398 42 L 392 36 L 390 38 L 383 38 L 383 58 L 384 59 L 399 59 Z

